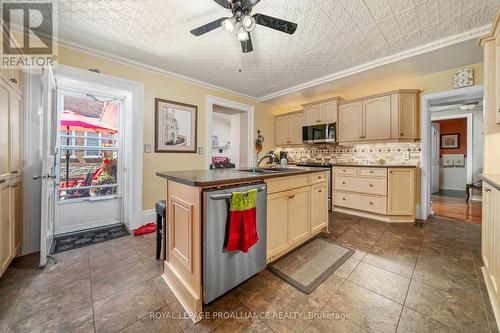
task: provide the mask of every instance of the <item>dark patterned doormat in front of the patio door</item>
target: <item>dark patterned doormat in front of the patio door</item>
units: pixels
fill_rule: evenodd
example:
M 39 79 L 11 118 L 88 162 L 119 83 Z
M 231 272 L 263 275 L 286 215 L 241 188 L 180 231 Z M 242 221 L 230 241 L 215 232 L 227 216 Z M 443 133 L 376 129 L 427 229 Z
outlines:
M 98 244 L 128 235 L 130 235 L 130 233 L 127 228 L 123 224 L 120 224 L 106 228 L 92 229 L 74 234 L 56 236 L 54 237 L 51 253 L 74 250 L 79 247 Z

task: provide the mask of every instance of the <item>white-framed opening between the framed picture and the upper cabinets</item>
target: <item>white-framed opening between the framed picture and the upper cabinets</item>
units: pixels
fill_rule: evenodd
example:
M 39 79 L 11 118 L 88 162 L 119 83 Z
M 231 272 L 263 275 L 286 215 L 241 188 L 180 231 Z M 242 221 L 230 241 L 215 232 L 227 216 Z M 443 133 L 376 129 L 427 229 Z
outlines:
M 253 111 L 250 105 L 208 97 L 208 167 L 244 168 L 253 165 Z

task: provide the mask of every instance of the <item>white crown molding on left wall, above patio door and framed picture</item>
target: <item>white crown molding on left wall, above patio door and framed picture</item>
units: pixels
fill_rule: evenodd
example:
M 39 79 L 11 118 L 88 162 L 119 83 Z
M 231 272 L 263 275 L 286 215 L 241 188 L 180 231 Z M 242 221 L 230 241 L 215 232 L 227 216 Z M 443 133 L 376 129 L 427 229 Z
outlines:
M 224 87 L 220 87 L 220 86 L 217 86 L 215 84 L 211 84 L 211 83 L 208 83 L 205 81 L 193 79 L 191 77 L 188 77 L 188 76 L 185 76 L 182 74 L 167 71 L 165 69 L 162 69 L 162 68 L 159 68 L 156 66 L 151 66 L 151 65 L 139 62 L 139 61 L 124 58 L 124 57 L 118 56 L 116 54 L 93 49 L 93 48 L 87 47 L 85 45 L 82 45 L 80 43 L 75 43 L 75 42 L 69 41 L 67 39 L 60 38 L 58 40 L 58 44 L 60 46 L 66 47 L 66 48 L 74 50 L 74 51 L 82 52 L 85 54 L 89 54 L 89 55 L 96 56 L 96 57 L 103 58 L 103 59 L 107 59 L 107 60 L 112 60 L 112 61 L 115 61 L 115 62 L 120 63 L 122 65 L 127 65 L 127 66 L 132 66 L 132 67 L 135 67 L 138 69 L 147 70 L 147 71 L 153 72 L 155 74 L 163 74 L 165 76 L 183 81 L 185 83 L 194 84 L 194 85 L 197 85 L 197 86 L 200 86 L 203 88 L 210 88 L 210 89 L 218 90 L 220 92 L 225 92 L 227 94 L 231 94 L 234 96 L 249 99 L 249 100 L 256 102 L 256 103 L 258 102 L 258 97 L 255 97 L 255 96 L 250 96 L 250 95 L 243 94 L 243 93 L 240 93 L 238 91 L 227 89 Z

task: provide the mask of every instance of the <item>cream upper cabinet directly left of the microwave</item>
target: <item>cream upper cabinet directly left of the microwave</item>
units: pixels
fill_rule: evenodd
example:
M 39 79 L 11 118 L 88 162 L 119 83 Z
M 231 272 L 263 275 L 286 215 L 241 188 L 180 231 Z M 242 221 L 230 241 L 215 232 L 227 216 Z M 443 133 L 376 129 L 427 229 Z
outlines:
M 275 119 L 275 145 L 302 144 L 302 126 L 304 115 L 302 113 L 277 116 Z

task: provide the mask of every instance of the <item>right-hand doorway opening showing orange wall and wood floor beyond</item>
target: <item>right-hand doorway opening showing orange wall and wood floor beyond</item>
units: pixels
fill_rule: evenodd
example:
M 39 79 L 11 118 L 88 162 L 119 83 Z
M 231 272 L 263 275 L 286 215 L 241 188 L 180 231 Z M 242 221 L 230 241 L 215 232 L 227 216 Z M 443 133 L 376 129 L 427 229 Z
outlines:
M 435 216 L 480 224 L 483 168 L 482 95 L 430 103 L 430 205 Z

